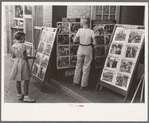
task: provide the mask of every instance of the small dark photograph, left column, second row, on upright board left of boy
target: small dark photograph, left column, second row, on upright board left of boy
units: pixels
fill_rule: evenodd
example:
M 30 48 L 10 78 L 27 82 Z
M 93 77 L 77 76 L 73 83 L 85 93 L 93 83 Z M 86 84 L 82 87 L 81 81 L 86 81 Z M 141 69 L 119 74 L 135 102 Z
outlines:
M 69 35 L 58 35 L 58 45 L 69 44 Z

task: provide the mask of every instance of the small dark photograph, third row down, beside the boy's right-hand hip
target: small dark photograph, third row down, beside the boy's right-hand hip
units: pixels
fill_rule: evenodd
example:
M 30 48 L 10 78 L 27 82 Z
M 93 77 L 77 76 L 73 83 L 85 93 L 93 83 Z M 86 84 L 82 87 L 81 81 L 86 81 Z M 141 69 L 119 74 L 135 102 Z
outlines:
M 95 56 L 103 56 L 105 55 L 105 47 L 104 46 L 96 46 L 94 48 Z

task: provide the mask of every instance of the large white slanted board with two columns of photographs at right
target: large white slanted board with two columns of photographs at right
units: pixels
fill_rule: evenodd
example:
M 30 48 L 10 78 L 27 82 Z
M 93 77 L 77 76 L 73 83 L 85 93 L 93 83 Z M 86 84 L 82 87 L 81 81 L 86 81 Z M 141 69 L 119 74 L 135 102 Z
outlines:
M 144 29 L 134 27 L 125 25 L 116 28 L 101 75 L 102 81 L 125 91 L 129 87 L 144 40 Z

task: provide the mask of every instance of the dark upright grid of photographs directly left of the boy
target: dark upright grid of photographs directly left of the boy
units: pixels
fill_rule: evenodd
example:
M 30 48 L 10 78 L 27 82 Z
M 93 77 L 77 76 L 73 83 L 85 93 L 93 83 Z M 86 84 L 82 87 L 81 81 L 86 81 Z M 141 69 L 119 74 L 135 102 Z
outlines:
M 73 43 L 73 39 L 80 27 L 79 22 L 57 23 L 59 30 L 57 35 L 57 69 L 74 68 L 76 66 L 79 40 Z

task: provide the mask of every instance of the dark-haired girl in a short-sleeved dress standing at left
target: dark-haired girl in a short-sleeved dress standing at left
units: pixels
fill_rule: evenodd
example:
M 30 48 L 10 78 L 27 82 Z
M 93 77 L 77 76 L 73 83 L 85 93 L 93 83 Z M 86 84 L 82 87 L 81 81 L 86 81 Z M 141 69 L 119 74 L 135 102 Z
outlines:
M 29 98 L 29 81 L 31 76 L 31 70 L 28 63 L 28 59 L 35 59 L 35 57 L 28 57 L 26 47 L 24 45 L 26 34 L 23 32 L 17 32 L 15 39 L 18 43 L 12 46 L 11 55 L 15 58 L 14 65 L 11 70 L 10 80 L 16 81 L 16 87 L 18 92 L 18 99 L 23 99 L 24 102 L 35 102 L 34 99 Z M 21 81 L 24 80 L 24 95 L 21 92 Z

